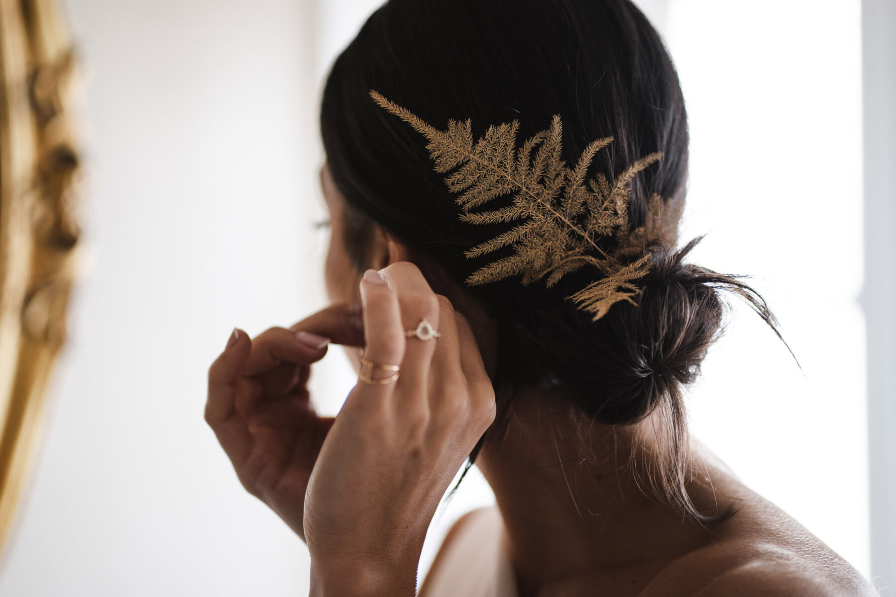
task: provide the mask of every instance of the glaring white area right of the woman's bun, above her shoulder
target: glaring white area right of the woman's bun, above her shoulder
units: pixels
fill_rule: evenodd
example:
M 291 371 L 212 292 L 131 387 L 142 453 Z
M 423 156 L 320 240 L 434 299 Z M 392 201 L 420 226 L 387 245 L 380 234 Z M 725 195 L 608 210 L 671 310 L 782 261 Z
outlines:
M 709 233 L 695 263 L 754 276 L 803 365 L 732 296 L 692 430 L 868 576 L 860 32 L 858 0 L 668 5 L 692 135 L 682 239 Z

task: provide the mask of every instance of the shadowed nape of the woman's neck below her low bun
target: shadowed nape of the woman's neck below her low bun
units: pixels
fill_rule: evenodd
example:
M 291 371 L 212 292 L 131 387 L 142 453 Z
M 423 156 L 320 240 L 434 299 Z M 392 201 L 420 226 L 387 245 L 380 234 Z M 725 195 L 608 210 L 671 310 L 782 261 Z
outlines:
M 638 489 L 628 465 L 633 438 L 646 448 L 639 454 L 657 453 L 661 447 L 645 445 L 652 434 L 642 432 L 654 423 L 648 418 L 640 429 L 589 423 L 568 401 L 523 391 L 506 431 L 500 438 L 489 432 L 477 462 L 504 517 L 521 594 L 583 575 L 629 570 L 643 578 L 711 539 Z M 709 484 L 691 483 L 688 490 L 695 506 L 714 508 Z

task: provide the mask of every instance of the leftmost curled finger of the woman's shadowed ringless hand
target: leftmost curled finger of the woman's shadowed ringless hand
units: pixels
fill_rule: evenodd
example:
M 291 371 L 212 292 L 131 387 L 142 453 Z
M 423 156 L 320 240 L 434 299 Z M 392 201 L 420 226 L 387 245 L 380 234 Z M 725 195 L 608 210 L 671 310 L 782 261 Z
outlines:
M 236 409 L 238 371 L 246 362 L 252 345 L 246 332 L 239 329 L 234 329 L 230 340 L 209 368 L 205 422 L 215 432 L 221 448 L 237 465 L 246 459 L 252 448 L 252 436 Z

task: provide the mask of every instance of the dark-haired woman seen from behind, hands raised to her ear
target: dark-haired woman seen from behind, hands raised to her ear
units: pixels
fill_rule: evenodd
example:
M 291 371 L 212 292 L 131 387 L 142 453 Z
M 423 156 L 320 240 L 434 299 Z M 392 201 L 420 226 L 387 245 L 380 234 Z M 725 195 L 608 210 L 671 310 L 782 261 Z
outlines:
M 516 121 L 519 138 L 553 138 L 587 167 L 595 192 L 622 189 L 615 234 L 574 251 L 597 268 L 467 283 L 512 247 L 470 250 L 513 225 L 465 219 L 477 211 L 434 168 L 448 154 L 419 134 L 466 118 L 472 139 Z M 719 337 L 721 291 L 777 328 L 750 286 L 684 262 L 699 237 L 675 248 L 684 100 L 631 2 L 390 0 L 333 64 L 321 126 L 333 304 L 253 339 L 235 329 L 206 408 L 246 490 L 306 540 L 312 594 L 415 594 L 427 526 L 465 460 L 496 507 L 452 527 L 426 597 L 874 594 L 688 436 L 682 388 Z M 562 219 L 581 233 L 581 217 Z M 528 236 L 527 262 L 567 263 L 559 236 Z M 636 264 L 649 269 L 599 310 L 570 300 Z M 358 371 L 335 419 L 306 390 L 330 343 Z

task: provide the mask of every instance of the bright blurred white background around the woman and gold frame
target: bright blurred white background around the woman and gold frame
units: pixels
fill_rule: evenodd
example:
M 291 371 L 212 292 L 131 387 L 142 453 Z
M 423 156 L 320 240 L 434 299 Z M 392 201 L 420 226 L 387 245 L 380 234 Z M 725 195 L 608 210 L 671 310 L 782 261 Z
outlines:
M 59 3 L 82 81 L 80 265 L 0 595 L 307 592 L 304 543 L 203 421 L 206 375 L 234 326 L 254 336 L 325 305 L 318 102 L 380 4 Z M 753 275 L 804 368 L 731 298 L 692 431 L 896 595 L 896 3 L 636 4 L 685 90 L 681 238 L 708 233 L 689 260 Z M 354 382 L 332 349 L 315 404 L 337 413 Z M 492 500 L 468 475 L 421 579 L 452 522 Z

